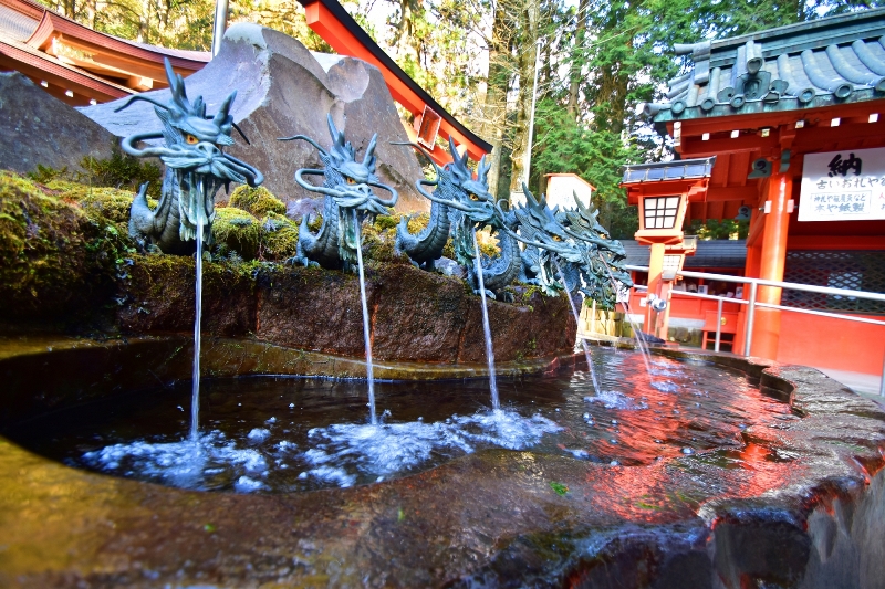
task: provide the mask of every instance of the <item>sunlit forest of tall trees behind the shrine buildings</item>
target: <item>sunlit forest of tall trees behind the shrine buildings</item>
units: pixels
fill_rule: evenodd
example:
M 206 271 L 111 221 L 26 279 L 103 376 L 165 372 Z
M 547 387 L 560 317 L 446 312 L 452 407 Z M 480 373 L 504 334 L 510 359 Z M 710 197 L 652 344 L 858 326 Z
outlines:
M 40 0 L 92 29 L 143 43 L 208 50 L 212 0 Z M 347 11 L 445 108 L 494 146 L 490 188 L 519 189 L 540 48 L 529 188 L 572 172 L 616 239 L 632 239 L 635 208 L 617 183 L 625 164 L 659 161 L 670 146 L 636 112 L 659 99 L 688 63 L 674 43 L 751 33 L 879 0 L 345 0 Z M 249 21 L 331 53 L 295 0 L 230 0 Z

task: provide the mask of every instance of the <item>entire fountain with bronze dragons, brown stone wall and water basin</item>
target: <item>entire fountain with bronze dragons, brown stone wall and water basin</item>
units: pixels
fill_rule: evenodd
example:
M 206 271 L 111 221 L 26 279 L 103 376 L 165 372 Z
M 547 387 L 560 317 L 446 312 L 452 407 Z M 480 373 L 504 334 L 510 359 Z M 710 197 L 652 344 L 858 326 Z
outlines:
M 178 185 L 157 212 L 143 189 L 133 225 L 177 211 L 174 231 L 134 233 L 190 254 L 220 186 L 199 175 L 261 175 L 221 154 L 232 97 L 206 118 L 169 80 L 184 115 L 154 103 L 165 133 L 136 137 L 166 146 L 124 145 L 167 158 Z M 575 356 L 571 295 L 613 305 L 628 284 L 593 211 L 528 190 L 494 206 L 483 162 L 475 178 L 451 145 L 452 165 L 416 180 L 438 224 L 416 236 L 392 219 L 384 238 L 371 218 L 397 192 L 373 177 L 375 144 L 360 162 L 327 125 L 329 149 L 295 136 L 323 164 L 296 181 L 324 196 L 296 263 L 124 252 L 103 316 L 116 332 L 0 338 L 0 585 L 882 587 L 885 411 L 803 367 Z M 181 157 L 206 141 L 218 154 Z M 13 190 L 22 240 L 49 231 L 34 203 L 82 214 L 0 175 Z M 431 272 L 446 224 L 467 281 Z

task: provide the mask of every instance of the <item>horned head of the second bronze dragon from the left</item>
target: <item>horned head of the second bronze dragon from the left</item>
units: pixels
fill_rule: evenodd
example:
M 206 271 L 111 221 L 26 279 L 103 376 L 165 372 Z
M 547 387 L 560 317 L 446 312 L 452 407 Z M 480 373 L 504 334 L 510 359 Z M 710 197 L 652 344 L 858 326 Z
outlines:
M 320 151 L 320 159 L 324 169 L 300 169 L 295 172 L 295 182 L 310 192 L 332 197 L 342 209 L 358 211 L 360 213 L 376 215 L 387 214 L 387 209 L 396 204 L 397 192 L 393 187 L 382 183 L 375 176 L 375 147 L 378 135 L 372 136 L 363 154 L 363 160 L 356 160 L 356 150 L 344 138 L 344 133 L 335 127 L 332 115 L 327 115 L 329 134 L 332 136 L 332 147 L 323 149 L 320 144 L 304 135 L 283 137 L 281 141 L 302 139 Z M 323 176 L 322 186 L 314 186 L 304 179 L 304 176 Z M 375 193 L 378 188 L 389 192 L 389 198 L 384 199 Z

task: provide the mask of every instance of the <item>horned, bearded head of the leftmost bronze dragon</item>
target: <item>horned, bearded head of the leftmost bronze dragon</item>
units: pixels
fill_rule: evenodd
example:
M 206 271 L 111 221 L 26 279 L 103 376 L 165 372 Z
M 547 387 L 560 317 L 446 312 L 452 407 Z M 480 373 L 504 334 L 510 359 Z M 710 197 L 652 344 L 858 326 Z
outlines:
M 169 102 L 164 103 L 138 94 L 115 112 L 123 111 L 137 101 L 144 101 L 154 105 L 154 112 L 163 122 L 162 132 L 131 135 L 123 139 L 122 147 L 131 156 L 158 157 L 167 168 L 175 170 L 175 179 L 179 186 L 180 238 L 184 241 L 195 238 L 198 222 L 204 227 L 211 223 L 215 218 L 214 197 L 218 188 L 227 188 L 230 182 L 257 187 L 264 178 L 249 164 L 222 150 L 223 147 L 233 145 L 230 136 L 232 129 L 236 128 L 242 135 L 230 114 L 237 92 L 232 92 L 221 103 L 215 115 L 207 116 L 202 96 L 190 102 L 184 78 L 173 71 L 168 59 L 165 63 L 171 92 Z M 244 135 L 242 137 L 246 139 Z M 136 147 L 139 141 L 150 139 L 164 139 L 165 145 Z

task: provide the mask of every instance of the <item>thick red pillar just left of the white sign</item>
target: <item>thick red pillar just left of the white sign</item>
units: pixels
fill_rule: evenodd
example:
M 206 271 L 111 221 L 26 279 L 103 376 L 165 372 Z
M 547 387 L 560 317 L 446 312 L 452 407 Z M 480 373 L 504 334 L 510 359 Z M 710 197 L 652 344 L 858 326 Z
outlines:
M 766 214 L 762 248 L 759 252 L 759 277 L 768 281 L 782 281 L 783 266 L 787 261 L 787 229 L 790 215 L 787 213 L 787 201 L 793 192 L 793 178 L 789 173 L 772 173 L 768 180 L 767 201 L 771 210 Z M 754 263 L 754 260 L 748 260 Z M 760 286 L 757 302 L 779 305 L 781 288 Z M 778 359 L 778 343 L 781 333 L 781 312 L 778 309 L 756 309 L 756 319 L 750 353 L 753 356 Z

